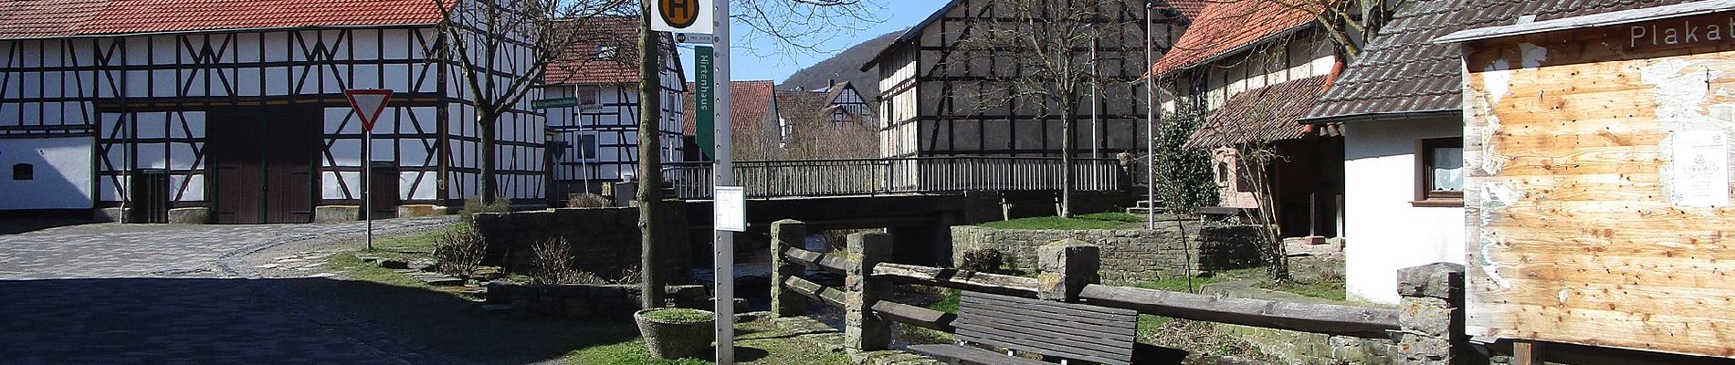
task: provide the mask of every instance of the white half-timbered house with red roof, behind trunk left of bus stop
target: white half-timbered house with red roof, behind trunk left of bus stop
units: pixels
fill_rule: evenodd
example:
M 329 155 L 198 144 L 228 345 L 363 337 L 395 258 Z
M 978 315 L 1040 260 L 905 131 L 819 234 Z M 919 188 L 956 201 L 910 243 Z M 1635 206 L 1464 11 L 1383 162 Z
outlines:
M 548 133 L 553 135 L 555 197 L 574 192 L 600 192 L 604 182 L 619 182 L 633 175 L 638 159 L 638 19 L 599 17 L 573 24 L 583 33 L 571 57 L 548 64 L 543 76 L 545 97 L 574 97 L 576 107 L 555 107 L 543 112 Z M 682 92 L 687 81 L 680 55 L 665 40 L 661 88 L 661 145 L 656 152 L 663 161 L 684 161 L 685 145 L 682 121 L 687 119 Z

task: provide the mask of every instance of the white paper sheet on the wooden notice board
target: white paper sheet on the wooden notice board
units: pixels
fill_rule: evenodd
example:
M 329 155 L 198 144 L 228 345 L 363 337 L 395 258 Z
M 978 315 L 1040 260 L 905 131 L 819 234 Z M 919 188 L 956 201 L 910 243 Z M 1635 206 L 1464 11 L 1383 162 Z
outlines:
M 1730 206 L 1728 133 L 1697 130 L 1674 133 L 1671 187 L 1676 206 Z

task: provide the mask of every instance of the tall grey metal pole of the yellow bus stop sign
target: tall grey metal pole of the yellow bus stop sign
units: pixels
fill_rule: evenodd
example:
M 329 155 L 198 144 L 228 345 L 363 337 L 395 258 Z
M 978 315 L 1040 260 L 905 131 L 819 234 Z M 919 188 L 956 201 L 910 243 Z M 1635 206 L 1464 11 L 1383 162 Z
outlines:
M 717 69 L 711 76 L 717 88 L 717 119 L 713 128 L 717 128 L 717 159 L 711 166 L 711 173 L 717 175 L 713 187 L 734 185 L 734 161 L 730 157 L 732 140 L 730 119 L 729 119 L 729 2 L 711 2 L 715 5 L 715 14 L 711 21 L 715 24 L 713 35 L 717 35 L 717 48 L 713 54 L 713 67 Z M 715 194 L 713 194 L 715 206 Z M 715 228 L 715 227 L 713 227 Z M 717 280 L 717 363 L 732 365 L 736 363 L 736 232 L 715 230 L 715 280 Z

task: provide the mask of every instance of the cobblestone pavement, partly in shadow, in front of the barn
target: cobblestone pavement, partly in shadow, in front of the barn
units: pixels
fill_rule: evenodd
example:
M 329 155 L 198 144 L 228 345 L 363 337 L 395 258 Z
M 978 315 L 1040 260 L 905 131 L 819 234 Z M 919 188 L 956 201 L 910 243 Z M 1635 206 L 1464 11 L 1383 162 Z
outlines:
M 236 268 L 246 253 L 363 228 L 106 223 L 0 235 L 0 363 L 406 363 Z

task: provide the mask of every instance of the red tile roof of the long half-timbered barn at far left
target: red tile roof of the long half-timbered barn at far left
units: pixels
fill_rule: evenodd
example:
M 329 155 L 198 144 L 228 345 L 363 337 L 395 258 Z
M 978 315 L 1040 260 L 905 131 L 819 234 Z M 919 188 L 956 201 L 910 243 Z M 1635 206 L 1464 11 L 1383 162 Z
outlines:
M 0 38 L 434 24 L 434 0 L 7 0 Z

